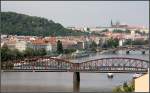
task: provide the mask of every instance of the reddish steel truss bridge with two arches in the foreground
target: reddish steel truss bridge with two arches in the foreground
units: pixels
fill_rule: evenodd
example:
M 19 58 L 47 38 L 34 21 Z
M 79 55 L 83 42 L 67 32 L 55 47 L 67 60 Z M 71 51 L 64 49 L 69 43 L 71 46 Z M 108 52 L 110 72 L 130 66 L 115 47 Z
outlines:
M 16 60 L 12 71 L 90 72 L 90 73 L 146 73 L 149 61 L 135 58 L 111 57 L 72 63 L 52 57 Z

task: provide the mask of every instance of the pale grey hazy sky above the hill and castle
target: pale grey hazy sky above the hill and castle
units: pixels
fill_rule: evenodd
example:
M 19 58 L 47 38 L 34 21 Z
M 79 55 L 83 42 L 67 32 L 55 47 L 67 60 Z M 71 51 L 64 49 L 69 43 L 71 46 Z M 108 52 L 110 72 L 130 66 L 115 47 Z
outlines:
M 1 1 L 1 11 L 44 17 L 65 27 L 149 26 L 148 1 Z

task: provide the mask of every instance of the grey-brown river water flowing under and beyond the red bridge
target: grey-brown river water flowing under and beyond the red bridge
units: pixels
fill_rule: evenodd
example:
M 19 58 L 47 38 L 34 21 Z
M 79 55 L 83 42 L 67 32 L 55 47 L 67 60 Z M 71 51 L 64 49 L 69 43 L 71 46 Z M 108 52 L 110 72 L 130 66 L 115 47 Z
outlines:
M 125 51 L 113 53 L 96 53 L 89 57 L 70 60 L 83 62 L 90 59 L 104 57 L 131 57 L 149 60 L 149 51 L 145 55 L 141 51 L 132 51 L 126 55 Z M 81 92 L 111 92 L 116 86 L 132 80 L 133 74 L 116 73 L 114 78 L 108 79 L 107 73 L 80 73 Z M 1 72 L 2 92 L 72 92 L 72 72 Z

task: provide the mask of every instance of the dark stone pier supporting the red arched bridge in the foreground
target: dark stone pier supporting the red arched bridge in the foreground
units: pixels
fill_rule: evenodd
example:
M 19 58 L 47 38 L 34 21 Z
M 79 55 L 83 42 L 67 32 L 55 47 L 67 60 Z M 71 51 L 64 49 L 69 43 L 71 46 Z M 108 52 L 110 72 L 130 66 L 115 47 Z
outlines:
M 80 92 L 80 72 L 73 73 L 73 93 Z

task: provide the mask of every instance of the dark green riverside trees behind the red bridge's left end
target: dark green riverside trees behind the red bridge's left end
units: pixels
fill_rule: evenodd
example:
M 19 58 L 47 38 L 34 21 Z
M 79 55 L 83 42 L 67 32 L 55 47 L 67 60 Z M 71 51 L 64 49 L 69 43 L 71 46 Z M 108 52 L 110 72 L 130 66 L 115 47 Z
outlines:
M 33 50 L 31 48 L 27 48 L 25 51 L 20 52 L 17 49 L 11 50 L 7 47 L 7 45 L 4 45 L 1 48 L 1 67 L 2 69 L 11 69 L 13 67 L 13 60 L 44 55 L 46 55 L 45 49 Z

